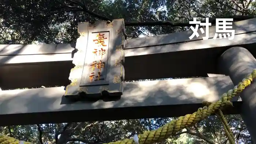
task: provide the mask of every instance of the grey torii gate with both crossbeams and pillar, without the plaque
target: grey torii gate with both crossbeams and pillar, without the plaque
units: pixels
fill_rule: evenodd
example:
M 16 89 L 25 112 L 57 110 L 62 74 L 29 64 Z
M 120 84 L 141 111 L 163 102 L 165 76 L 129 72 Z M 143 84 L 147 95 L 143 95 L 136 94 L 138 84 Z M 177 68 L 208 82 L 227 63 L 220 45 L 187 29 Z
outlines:
M 233 40 L 212 39 L 214 26 L 208 40 L 202 40 L 202 35 L 190 40 L 192 31 L 125 40 L 125 80 L 202 77 L 123 83 L 123 95 L 116 101 L 69 102 L 63 96 L 64 87 L 54 87 L 69 84 L 75 44 L 0 45 L 0 116 L 7 120 L 0 125 L 192 113 L 202 101 L 216 101 L 256 68 L 256 19 L 235 22 L 233 29 Z M 40 86 L 53 87 L 8 90 Z M 255 87 L 252 83 L 242 92 L 242 102 L 234 99 L 234 107 L 226 111 L 242 115 L 254 141 Z M 81 117 L 84 114 L 89 116 Z

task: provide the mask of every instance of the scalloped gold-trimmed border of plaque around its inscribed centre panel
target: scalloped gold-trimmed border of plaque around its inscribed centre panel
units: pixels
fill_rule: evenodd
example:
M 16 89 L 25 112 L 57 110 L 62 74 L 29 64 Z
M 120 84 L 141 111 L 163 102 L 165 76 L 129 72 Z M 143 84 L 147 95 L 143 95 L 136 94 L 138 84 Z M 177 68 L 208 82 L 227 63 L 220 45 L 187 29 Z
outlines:
M 83 65 L 86 57 L 88 35 L 92 32 L 108 31 L 109 32 L 109 43 L 112 42 L 113 57 L 108 56 L 108 73 L 114 73 L 114 75 L 107 74 L 108 83 L 105 85 L 97 86 L 80 86 L 80 82 L 83 75 Z M 93 24 L 89 22 L 82 22 L 78 24 L 78 33 L 80 37 L 76 42 L 76 49 L 72 63 L 75 65 L 71 69 L 69 74 L 69 80 L 71 83 L 65 88 L 65 94 L 67 98 L 74 95 L 80 95 L 85 93 L 86 95 L 101 96 L 102 92 L 108 92 L 109 96 L 121 96 L 123 94 L 124 86 L 122 81 L 124 80 L 124 60 L 125 60 L 125 28 L 124 19 L 114 19 L 110 21 L 98 21 Z M 112 38 L 112 41 L 110 39 Z M 114 42 L 113 42 L 114 41 Z M 83 44 L 81 45 L 81 42 Z M 109 67 L 110 65 L 110 67 Z

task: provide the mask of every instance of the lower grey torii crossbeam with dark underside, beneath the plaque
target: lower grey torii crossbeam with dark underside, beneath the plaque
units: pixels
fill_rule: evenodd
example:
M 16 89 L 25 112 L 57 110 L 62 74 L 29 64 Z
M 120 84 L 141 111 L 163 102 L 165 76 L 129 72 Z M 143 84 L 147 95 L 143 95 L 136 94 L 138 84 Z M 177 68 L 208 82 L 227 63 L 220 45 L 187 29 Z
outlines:
M 64 87 L 0 91 L 1 125 L 176 117 L 193 113 L 203 101 L 217 101 L 234 87 L 229 76 L 124 83 L 118 101 L 75 102 Z M 238 99 L 226 113 L 239 113 Z M 164 110 L 165 109 L 165 110 Z

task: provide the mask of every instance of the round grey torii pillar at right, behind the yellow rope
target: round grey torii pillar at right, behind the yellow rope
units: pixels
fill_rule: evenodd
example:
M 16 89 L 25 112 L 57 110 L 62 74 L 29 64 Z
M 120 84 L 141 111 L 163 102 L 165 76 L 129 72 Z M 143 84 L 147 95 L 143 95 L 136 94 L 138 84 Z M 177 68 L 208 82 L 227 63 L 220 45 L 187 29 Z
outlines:
M 249 73 L 256 68 L 256 59 L 245 48 L 233 47 L 226 50 L 219 58 L 219 71 L 229 75 L 230 79 L 237 85 Z M 240 94 L 242 99 L 241 117 L 256 143 L 256 82 L 253 81 Z

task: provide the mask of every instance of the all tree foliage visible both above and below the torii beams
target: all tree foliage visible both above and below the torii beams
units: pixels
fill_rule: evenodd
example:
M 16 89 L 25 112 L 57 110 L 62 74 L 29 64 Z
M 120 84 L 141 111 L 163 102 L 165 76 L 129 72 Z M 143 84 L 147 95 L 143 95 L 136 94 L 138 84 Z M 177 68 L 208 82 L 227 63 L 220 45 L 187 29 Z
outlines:
M 138 38 L 188 30 L 186 23 L 194 17 L 239 20 L 255 15 L 255 0 L 1 0 L 0 43 L 75 43 L 79 37 L 77 23 L 82 21 L 124 18 L 128 38 Z M 154 25 L 157 22 L 172 23 Z M 227 115 L 227 119 L 237 142 L 252 143 L 240 115 Z M 16 139 L 40 144 L 101 144 L 159 128 L 170 120 L 151 118 L 4 126 L 1 131 Z M 224 135 L 218 118 L 211 116 L 163 143 L 224 144 L 227 143 Z

